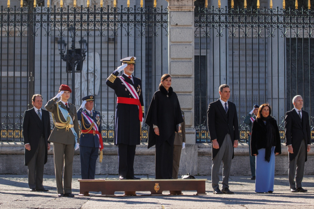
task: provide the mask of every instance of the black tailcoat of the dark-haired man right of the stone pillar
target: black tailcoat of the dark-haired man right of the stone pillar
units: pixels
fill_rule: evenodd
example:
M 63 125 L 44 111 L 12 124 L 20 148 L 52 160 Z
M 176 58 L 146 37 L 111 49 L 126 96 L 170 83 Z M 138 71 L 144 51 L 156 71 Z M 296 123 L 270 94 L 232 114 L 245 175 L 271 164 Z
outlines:
M 217 139 L 219 149 L 225 139 L 225 136 L 230 132 L 232 144 L 234 140 L 239 140 L 239 123 L 237 109 L 234 103 L 228 101 L 229 116 L 226 116 L 226 111 L 220 100 L 212 102 L 208 105 L 207 110 L 207 127 L 210 134 L 210 141 Z M 216 156 L 219 149 L 212 148 L 212 159 Z M 232 153 L 233 159 L 233 153 Z

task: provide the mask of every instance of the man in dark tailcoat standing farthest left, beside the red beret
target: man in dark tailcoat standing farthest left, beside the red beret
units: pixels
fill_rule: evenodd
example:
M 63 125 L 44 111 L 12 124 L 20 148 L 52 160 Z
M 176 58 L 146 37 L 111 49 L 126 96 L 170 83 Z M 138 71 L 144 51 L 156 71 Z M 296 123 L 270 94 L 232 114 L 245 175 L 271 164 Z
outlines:
M 23 136 L 25 144 L 24 164 L 28 166 L 28 186 L 30 192 L 47 192 L 43 185 L 44 164 L 50 149 L 50 115 L 42 109 L 41 95 L 33 95 L 33 108 L 24 112 Z

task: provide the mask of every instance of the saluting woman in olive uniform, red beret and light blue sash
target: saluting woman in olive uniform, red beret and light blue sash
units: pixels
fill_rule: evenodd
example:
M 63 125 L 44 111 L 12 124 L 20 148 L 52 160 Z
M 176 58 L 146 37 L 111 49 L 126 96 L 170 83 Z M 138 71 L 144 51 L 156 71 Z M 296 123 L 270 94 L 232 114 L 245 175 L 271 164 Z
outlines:
M 48 101 L 45 108 L 52 113 L 54 128 L 48 141 L 53 142 L 54 170 L 58 197 L 72 194 L 72 169 L 74 149 L 79 147 L 79 126 L 74 104 L 69 104 L 71 89 L 62 84 L 58 94 Z M 57 102 L 61 97 L 61 101 Z M 62 169 L 63 185 L 62 185 Z

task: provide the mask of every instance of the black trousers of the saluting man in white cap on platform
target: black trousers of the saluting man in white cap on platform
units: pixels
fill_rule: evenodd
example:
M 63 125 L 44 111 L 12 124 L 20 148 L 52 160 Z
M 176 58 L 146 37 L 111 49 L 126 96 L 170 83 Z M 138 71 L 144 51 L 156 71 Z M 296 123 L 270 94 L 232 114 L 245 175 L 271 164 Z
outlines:
M 118 144 L 119 176 L 134 177 L 134 156 L 136 145 Z

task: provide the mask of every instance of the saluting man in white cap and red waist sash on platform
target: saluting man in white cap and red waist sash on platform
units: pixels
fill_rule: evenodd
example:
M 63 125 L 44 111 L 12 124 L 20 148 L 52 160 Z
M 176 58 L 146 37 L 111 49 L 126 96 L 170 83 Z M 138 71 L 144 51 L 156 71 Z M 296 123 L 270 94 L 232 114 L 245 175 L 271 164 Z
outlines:
M 134 176 L 136 145 L 140 144 L 140 129 L 144 121 L 144 103 L 141 79 L 132 75 L 136 57 L 127 57 L 107 79 L 115 90 L 117 108 L 115 118 L 115 144 L 118 145 L 119 179 L 140 179 Z M 119 73 L 124 70 L 122 76 Z

